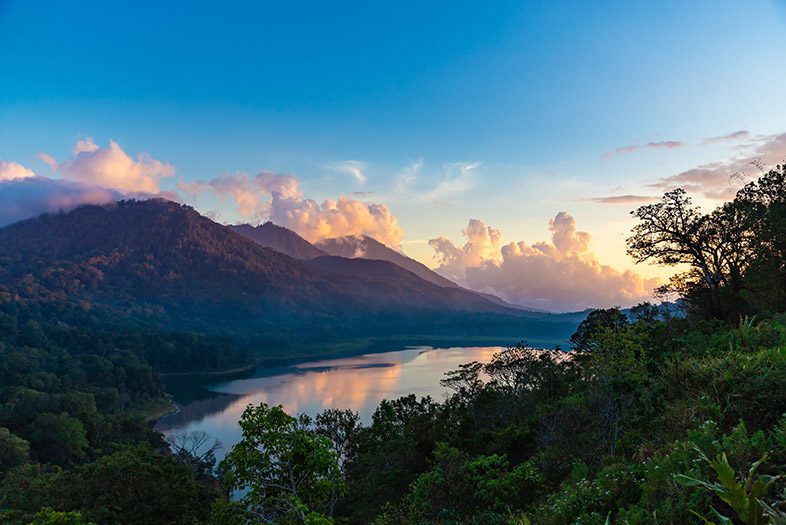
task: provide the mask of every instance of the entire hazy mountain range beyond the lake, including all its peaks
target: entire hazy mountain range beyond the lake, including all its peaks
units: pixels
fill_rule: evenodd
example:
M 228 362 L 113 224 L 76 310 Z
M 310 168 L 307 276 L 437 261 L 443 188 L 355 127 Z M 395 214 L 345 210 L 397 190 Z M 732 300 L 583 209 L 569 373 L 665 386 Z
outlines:
M 346 257 L 361 252 L 368 258 Z M 278 356 L 350 338 L 558 341 L 582 319 L 465 290 L 369 237 L 317 247 L 270 223 L 226 227 L 165 200 L 0 229 L 0 312 L 133 340 L 169 372 L 237 368 L 256 359 L 251 351 Z

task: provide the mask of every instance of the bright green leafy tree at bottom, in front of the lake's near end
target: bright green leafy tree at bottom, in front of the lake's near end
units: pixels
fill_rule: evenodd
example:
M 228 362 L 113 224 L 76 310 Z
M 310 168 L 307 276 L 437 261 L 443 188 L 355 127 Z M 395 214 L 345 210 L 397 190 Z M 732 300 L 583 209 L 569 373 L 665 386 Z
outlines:
M 230 490 L 245 492 L 248 514 L 261 523 L 332 523 L 344 483 L 330 440 L 264 403 L 246 408 L 240 428 L 220 469 Z

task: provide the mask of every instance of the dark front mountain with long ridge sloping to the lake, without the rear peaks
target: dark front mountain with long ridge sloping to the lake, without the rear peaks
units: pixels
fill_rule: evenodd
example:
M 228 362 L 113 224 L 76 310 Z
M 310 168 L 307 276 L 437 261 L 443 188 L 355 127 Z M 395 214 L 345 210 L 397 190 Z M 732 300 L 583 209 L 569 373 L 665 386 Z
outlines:
M 243 341 L 454 334 L 470 326 L 475 334 L 537 337 L 575 326 L 385 261 L 300 261 L 164 200 L 84 206 L 0 229 L 0 294 Z M 535 321 L 533 333 L 527 325 Z

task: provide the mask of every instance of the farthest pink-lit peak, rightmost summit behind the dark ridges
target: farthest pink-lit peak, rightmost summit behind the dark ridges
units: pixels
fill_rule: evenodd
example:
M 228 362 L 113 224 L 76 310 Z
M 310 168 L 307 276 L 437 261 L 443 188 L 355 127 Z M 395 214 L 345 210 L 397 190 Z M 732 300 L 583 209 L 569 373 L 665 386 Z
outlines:
M 431 284 L 435 284 L 443 288 L 459 287 L 453 281 L 446 279 L 445 277 L 442 277 L 433 270 L 429 269 L 425 264 L 422 264 L 414 259 L 410 259 L 406 255 L 388 248 L 381 242 L 367 235 L 350 235 L 346 237 L 324 239 L 317 242 L 315 246 L 320 250 L 337 257 L 345 257 L 348 259 L 379 259 L 382 261 L 392 262 L 393 264 L 414 273 L 424 281 L 428 281 Z

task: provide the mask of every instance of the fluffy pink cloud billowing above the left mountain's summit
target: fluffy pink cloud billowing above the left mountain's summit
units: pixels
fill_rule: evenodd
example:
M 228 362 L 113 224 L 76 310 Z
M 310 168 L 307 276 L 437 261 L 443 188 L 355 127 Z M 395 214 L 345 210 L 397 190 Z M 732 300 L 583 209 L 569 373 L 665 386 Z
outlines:
M 72 149 L 71 158 L 63 162 L 57 162 L 46 153 L 41 153 L 39 158 L 66 180 L 124 194 L 156 194 L 160 191 L 160 179 L 175 174 L 174 166 L 155 160 L 146 153 L 138 155 L 136 160 L 132 159 L 113 140 L 109 141 L 107 148 L 101 148 L 90 138 L 79 140 Z

